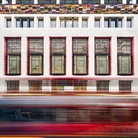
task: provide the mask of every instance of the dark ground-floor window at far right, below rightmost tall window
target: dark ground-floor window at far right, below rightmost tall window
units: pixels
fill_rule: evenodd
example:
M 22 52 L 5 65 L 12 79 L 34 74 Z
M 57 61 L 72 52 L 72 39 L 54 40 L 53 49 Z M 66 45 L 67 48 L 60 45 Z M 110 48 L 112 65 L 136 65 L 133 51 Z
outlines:
M 132 81 L 119 81 L 119 91 L 131 91 Z

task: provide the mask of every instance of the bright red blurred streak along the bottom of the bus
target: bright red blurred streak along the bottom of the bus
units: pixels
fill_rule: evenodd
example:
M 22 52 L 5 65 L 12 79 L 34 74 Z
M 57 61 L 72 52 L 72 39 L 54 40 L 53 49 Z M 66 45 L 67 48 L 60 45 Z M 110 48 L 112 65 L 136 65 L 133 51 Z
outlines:
M 138 136 L 138 123 L 1 123 L 0 135 L 122 135 Z

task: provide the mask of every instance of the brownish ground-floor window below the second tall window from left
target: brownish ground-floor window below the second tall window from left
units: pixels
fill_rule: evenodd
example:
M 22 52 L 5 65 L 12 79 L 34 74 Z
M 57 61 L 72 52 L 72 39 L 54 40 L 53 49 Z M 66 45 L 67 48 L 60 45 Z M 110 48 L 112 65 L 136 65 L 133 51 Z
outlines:
M 30 92 L 40 92 L 42 90 L 42 81 L 29 81 L 29 90 Z

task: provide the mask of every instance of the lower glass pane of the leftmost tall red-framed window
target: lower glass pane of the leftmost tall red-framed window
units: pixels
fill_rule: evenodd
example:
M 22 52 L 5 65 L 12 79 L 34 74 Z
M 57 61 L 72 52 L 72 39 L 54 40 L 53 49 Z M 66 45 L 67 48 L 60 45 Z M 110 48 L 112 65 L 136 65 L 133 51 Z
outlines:
M 8 56 L 8 74 L 20 74 L 20 57 Z

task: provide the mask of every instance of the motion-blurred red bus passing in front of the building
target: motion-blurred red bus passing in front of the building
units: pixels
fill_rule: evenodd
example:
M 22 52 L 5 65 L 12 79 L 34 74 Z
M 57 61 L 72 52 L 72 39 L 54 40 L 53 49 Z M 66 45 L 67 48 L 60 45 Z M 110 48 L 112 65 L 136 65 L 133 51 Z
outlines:
M 136 97 L 0 99 L 0 136 L 138 137 Z

